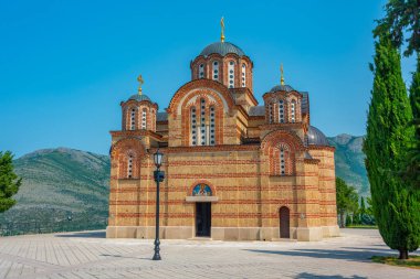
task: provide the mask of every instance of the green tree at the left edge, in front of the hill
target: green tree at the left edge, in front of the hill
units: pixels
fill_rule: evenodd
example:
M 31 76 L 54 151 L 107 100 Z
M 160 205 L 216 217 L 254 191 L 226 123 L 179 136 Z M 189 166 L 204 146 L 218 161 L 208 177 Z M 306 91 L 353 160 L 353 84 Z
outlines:
M 0 151 L 0 213 L 15 204 L 12 196 L 18 193 L 22 179 L 13 172 L 13 154 Z

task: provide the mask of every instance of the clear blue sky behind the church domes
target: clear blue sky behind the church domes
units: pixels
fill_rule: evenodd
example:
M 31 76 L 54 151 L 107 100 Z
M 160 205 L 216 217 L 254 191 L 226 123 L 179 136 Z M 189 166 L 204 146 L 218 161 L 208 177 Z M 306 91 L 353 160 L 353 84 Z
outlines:
M 254 62 L 254 94 L 280 83 L 309 92 L 312 124 L 364 135 L 371 30 L 385 0 L 1 1 L 0 150 L 69 147 L 106 154 L 119 103 L 144 93 L 165 109 L 189 63 L 220 39 Z M 403 60 L 410 82 L 414 58 Z

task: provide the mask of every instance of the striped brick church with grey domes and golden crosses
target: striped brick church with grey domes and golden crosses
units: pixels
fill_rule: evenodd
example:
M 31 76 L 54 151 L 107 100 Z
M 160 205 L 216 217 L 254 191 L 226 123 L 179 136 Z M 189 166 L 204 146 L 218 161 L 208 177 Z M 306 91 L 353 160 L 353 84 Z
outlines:
M 224 41 L 190 62 L 167 108 L 138 92 L 111 131 L 108 238 L 155 238 L 153 154 L 164 153 L 160 238 L 321 240 L 338 236 L 335 149 L 311 126 L 309 94 L 267 85 L 259 105 L 253 62 Z

